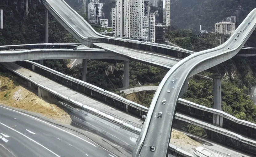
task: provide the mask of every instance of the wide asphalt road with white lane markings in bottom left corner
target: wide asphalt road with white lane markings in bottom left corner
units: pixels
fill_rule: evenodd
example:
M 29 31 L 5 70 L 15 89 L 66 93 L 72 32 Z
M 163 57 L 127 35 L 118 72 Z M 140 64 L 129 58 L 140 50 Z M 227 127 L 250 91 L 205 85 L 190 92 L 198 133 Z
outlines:
M 86 136 L 24 113 L 0 106 L 0 117 L 0 150 L 6 156 L 116 156 Z

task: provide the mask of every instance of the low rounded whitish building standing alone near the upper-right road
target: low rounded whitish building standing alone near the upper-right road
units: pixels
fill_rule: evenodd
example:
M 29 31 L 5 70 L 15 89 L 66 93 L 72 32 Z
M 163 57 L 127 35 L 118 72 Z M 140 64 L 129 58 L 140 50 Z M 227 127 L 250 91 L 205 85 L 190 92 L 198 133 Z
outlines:
M 231 22 L 218 22 L 215 24 L 215 32 L 218 34 L 232 34 L 234 33 L 236 26 Z

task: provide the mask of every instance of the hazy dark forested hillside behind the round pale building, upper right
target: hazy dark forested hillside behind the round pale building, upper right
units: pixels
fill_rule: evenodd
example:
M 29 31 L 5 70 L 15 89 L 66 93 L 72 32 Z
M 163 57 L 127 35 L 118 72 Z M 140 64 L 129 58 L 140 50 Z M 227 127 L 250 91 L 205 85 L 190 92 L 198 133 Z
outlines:
M 249 13 L 256 8 L 255 0 L 172 0 L 171 23 L 179 29 L 211 31 L 214 24 L 232 15 L 242 6 Z

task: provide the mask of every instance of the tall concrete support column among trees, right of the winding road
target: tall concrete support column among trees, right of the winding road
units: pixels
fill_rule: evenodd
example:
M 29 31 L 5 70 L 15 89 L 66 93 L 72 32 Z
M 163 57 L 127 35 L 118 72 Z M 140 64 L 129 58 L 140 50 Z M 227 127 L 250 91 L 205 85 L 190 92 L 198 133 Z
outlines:
M 214 89 L 214 109 L 221 110 L 221 75 L 219 73 L 214 74 L 213 79 L 213 89 Z M 214 114 L 213 115 L 213 124 L 222 127 L 223 117 Z

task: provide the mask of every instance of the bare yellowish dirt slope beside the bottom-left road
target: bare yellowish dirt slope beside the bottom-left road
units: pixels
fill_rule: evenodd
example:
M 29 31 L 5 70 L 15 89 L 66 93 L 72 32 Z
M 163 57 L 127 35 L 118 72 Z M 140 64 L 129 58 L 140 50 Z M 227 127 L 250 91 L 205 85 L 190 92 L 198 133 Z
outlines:
M 8 106 L 40 113 L 45 117 L 71 123 L 68 113 L 55 104 L 40 99 L 32 90 L 21 86 L 20 78 L 10 73 L 0 73 L 0 103 Z M 36 91 L 34 91 L 36 92 Z

